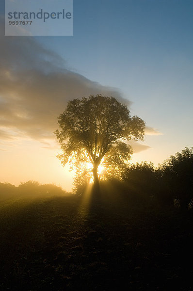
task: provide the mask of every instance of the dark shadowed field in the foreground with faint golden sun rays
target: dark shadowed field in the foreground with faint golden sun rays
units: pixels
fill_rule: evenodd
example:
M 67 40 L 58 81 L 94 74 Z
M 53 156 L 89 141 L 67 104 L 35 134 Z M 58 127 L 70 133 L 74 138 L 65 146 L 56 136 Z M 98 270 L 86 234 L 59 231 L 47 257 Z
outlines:
M 6 199 L 0 290 L 191 291 L 192 226 L 192 210 L 121 197 Z

